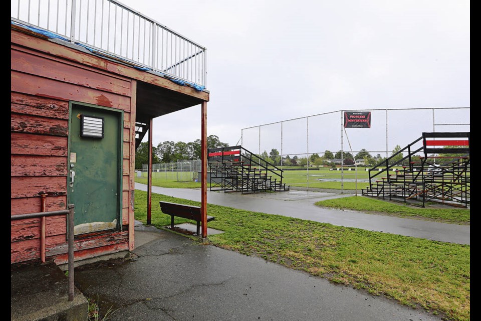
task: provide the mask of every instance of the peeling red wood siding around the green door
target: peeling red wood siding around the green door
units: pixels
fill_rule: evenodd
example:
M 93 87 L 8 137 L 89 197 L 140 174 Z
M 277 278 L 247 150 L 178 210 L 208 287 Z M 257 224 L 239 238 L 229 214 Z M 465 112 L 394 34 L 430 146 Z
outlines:
M 95 66 L 69 59 L 74 58 L 71 48 L 47 40 L 12 31 L 11 41 L 11 215 L 40 212 L 42 194 L 47 195 L 46 211 L 66 208 L 70 101 L 121 109 L 124 231 L 76 237 L 75 256 L 78 260 L 128 250 L 133 244 L 128 229 L 134 226 L 132 80 L 112 73 L 111 63 L 98 57 L 92 60 Z M 63 263 L 66 219 L 48 217 L 46 225 L 47 258 Z M 39 252 L 40 219 L 11 221 L 11 263 L 38 260 Z

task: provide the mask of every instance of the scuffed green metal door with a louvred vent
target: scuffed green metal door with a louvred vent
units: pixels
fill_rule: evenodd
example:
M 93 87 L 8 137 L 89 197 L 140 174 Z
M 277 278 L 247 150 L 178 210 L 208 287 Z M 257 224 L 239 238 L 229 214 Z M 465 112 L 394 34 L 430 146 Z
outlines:
M 75 234 L 120 227 L 122 112 L 71 105 L 68 203 Z

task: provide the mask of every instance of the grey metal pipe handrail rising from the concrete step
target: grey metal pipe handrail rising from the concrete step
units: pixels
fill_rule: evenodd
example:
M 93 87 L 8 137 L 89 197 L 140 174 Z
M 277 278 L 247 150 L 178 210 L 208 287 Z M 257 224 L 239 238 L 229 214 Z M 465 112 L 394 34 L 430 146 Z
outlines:
M 44 218 L 48 216 L 66 215 L 68 217 L 68 252 L 69 252 L 69 301 L 74 299 L 74 204 L 69 204 L 67 210 L 49 211 L 29 214 L 18 214 L 11 216 L 11 221 L 33 218 Z M 44 235 L 45 237 L 45 235 Z

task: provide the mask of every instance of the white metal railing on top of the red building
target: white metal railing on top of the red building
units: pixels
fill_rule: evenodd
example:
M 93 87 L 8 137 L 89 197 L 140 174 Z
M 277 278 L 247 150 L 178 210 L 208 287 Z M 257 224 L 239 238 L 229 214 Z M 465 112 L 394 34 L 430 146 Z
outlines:
M 15 22 L 206 86 L 203 46 L 116 0 L 11 0 L 11 13 Z

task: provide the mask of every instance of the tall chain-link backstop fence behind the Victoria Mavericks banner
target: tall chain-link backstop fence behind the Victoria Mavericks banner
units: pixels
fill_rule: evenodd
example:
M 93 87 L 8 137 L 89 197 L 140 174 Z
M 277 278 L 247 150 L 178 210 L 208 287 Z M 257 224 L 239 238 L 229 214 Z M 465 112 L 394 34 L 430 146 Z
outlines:
M 345 128 L 345 111 L 370 112 L 370 128 Z M 469 107 L 338 110 L 243 128 L 241 144 L 283 169 L 291 186 L 357 189 L 368 168 L 423 132 L 468 131 Z

